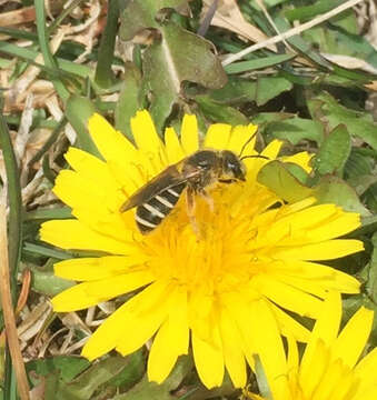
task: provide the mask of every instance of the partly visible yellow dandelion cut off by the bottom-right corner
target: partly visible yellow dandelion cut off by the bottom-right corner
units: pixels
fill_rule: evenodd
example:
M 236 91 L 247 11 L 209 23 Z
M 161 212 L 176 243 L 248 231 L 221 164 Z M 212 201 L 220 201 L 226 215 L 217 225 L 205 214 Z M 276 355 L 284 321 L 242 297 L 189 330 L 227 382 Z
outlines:
M 268 371 L 274 400 L 377 399 L 377 348 L 359 360 L 373 319 L 374 312 L 361 307 L 338 333 L 341 299 L 339 293 L 329 293 L 301 360 L 296 340 L 289 337 L 288 357 L 284 356 Z M 275 337 L 269 344 L 281 353 L 280 337 Z M 245 394 L 252 400 L 264 400 L 247 391 Z

